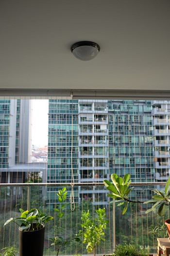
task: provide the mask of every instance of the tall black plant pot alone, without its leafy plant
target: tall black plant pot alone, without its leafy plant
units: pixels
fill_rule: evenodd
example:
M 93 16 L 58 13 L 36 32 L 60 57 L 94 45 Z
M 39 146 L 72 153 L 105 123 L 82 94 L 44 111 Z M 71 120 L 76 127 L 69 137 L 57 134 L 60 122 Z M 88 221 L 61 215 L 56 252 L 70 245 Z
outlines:
M 19 230 L 19 256 L 43 256 L 45 226 L 36 231 Z

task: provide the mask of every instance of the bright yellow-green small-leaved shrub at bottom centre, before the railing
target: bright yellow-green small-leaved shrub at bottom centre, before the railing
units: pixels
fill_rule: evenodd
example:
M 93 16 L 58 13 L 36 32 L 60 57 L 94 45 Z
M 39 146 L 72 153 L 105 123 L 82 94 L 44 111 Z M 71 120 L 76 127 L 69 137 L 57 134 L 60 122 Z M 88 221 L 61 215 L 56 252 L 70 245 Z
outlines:
M 94 256 L 96 255 L 96 246 L 100 244 L 101 240 L 105 240 L 104 230 L 108 220 L 105 220 L 105 209 L 99 208 L 96 210 L 97 216 L 95 221 L 92 220 L 92 216 L 89 211 L 82 212 L 82 227 L 83 227 L 83 243 L 86 243 L 87 252 L 94 250 Z

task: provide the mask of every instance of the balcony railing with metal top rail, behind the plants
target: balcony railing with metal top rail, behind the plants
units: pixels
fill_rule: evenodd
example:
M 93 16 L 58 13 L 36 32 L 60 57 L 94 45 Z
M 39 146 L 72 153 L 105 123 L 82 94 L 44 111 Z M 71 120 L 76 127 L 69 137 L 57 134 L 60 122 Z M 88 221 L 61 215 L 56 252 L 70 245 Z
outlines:
M 136 187 L 135 198 L 149 199 L 151 194 L 148 187 L 160 186 L 164 183 L 133 183 Z M 19 216 L 19 208 L 30 209 L 38 208 L 42 212 L 47 212 L 54 219 L 46 225 L 44 256 L 54 256 L 56 251 L 51 246 L 50 237 L 54 236 L 54 225 L 56 216 L 53 208 L 57 203 L 58 189 L 67 186 L 68 196 L 70 195 L 70 183 L 27 183 L 27 184 L 1 184 L 0 186 L 0 249 L 6 246 L 15 245 L 18 248 L 18 228 L 14 223 L 3 226 L 9 217 Z M 121 207 L 109 203 L 107 190 L 103 183 L 98 181 L 87 182 L 84 184 L 76 183 L 74 189 L 75 210 L 70 210 L 70 205 L 66 209 L 65 217 L 61 223 L 61 234 L 64 239 L 69 234 L 77 233 L 81 229 L 81 212 L 89 209 L 90 214 L 95 217 L 95 209 L 105 207 L 106 216 L 109 220 L 108 229 L 105 232 L 106 239 L 97 247 L 97 255 L 108 255 L 113 253 L 116 244 L 135 243 L 138 249 L 149 246 L 151 252 L 156 253 L 157 240 L 149 234 L 151 224 L 158 222 L 157 215 L 154 213 L 145 214 L 146 205 L 131 204 L 125 215 L 121 215 Z M 168 218 L 168 216 L 167 216 Z M 163 224 L 163 219 L 159 219 Z M 123 226 L 123 228 L 122 228 Z M 67 248 L 62 249 L 60 255 L 87 255 L 85 244 L 72 242 Z

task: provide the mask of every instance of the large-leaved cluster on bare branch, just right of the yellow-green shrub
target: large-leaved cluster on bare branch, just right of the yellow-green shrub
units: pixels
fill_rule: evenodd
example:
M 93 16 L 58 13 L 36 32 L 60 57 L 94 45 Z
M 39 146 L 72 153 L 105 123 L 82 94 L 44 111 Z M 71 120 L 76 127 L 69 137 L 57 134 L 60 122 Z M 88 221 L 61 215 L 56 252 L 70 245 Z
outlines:
M 129 199 L 129 193 L 130 191 L 134 188 L 131 187 L 129 188 L 131 184 L 130 180 L 130 175 L 125 174 L 125 176 L 118 177 L 117 174 L 112 174 L 111 175 L 111 180 L 113 184 L 108 181 L 107 179 L 103 180 L 104 185 L 106 186 L 106 189 L 111 192 L 111 194 L 108 194 L 108 197 L 112 197 L 116 202 L 119 202 L 118 206 L 124 205 L 122 214 L 124 215 L 127 211 L 128 203 L 130 202 L 139 202 L 141 203 L 142 201 L 135 201 L 135 200 L 130 200 Z

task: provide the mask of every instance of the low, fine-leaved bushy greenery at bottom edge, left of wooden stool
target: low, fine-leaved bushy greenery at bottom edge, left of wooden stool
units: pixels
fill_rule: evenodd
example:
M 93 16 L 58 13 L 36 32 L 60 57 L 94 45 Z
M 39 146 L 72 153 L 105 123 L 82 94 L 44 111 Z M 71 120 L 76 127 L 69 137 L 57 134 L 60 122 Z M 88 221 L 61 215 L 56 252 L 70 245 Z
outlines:
M 149 256 L 146 250 L 140 249 L 137 251 L 134 244 L 119 244 L 115 248 L 115 256 Z

